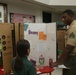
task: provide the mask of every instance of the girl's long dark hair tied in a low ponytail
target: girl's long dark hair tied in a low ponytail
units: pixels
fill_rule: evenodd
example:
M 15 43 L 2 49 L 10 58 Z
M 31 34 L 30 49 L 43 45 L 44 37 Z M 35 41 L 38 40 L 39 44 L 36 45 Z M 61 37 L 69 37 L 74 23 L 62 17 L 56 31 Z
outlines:
M 16 57 L 15 65 L 14 65 L 16 71 L 22 70 L 23 67 L 22 57 L 25 55 L 28 56 L 28 51 L 27 51 L 28 49 L 30 49 L 30 43 L 27 40 L 21 39 L 17 42 L 18 56 Z

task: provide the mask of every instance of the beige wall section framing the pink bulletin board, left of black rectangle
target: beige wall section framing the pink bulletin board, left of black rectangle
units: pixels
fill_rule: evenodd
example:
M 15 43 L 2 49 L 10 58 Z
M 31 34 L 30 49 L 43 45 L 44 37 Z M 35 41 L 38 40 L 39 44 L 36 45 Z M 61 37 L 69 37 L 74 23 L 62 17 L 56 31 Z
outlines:
M 10 13 L 20 13 L 20 14 L 28 14 L 35 16 L 35 22 L 42 22 L 42 11 L 36 8 L 30 8 L 28 6 L 20 6 L 20 5 L 13 5 L 8 4 L 8 21 L 10 20 Z

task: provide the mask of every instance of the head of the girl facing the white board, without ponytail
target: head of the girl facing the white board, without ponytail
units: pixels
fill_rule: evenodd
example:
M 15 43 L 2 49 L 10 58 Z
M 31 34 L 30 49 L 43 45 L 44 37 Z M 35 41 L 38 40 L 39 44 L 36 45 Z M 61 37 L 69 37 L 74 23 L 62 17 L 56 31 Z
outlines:
M 27 40 L 21 39 L 17 42 L 18 56 L 28 56 L 30 53 L 30 43 Z

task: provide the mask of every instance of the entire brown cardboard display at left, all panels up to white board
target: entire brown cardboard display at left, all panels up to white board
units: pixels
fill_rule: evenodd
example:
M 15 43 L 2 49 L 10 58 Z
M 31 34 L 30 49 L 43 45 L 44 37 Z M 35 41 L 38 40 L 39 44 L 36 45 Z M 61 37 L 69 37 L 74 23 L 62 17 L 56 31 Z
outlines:
M 4 75 L 10 75 L 12 59 L 16 56 L 16 44 L 24 38 L 23 24 L 0 23 L 0 66 Z

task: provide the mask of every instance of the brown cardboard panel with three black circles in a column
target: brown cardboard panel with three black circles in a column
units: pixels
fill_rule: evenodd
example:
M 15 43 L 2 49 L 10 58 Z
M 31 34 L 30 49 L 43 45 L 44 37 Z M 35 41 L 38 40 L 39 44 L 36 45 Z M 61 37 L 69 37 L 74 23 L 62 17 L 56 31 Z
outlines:
M 0 23 L 4 75 L 9 75 L 13 58 L 11 25 L 10 23 Z

